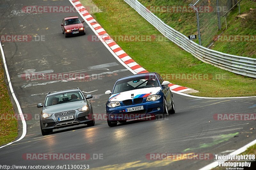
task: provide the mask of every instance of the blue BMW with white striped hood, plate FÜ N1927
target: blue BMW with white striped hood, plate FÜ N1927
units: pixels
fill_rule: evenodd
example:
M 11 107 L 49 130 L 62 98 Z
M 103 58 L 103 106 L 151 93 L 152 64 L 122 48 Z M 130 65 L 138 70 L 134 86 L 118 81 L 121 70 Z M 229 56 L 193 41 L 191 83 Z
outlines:
M 109 127 L 117 122 L 175 113 L 172 92 L 169 81 L 164 81 L 158 73 L 142 73 L 120 78 L 116 81 L 113 91 L 106 103 L 107 121 Z

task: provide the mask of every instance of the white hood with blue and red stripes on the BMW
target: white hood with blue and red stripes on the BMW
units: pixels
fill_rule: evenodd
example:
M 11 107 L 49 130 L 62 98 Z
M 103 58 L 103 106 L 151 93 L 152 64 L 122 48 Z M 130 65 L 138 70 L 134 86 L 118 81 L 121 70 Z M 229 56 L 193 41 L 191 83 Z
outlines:
M 139 97 L 147 97 L 149 95 L 154 95 L 158 91 L 161 90 L 161 87 L 151 87 L 151 88 L 144 88 L 144 89 L 135 89 L 130 91 L 124 91 L 121 93 L 113 94 L 109 97 L 111 102 L 113 101 L 124 101 L 128 99 L 134 99 Z

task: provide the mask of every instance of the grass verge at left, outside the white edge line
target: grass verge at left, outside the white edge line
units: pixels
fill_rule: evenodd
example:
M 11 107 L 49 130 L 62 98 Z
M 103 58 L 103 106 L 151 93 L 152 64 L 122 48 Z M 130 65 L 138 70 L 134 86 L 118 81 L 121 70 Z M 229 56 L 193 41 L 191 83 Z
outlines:
M 13 119 L 14 110 L 4 81 L 0 60 L 0 146 L 12 142 L 18 136 L 18 122 Z

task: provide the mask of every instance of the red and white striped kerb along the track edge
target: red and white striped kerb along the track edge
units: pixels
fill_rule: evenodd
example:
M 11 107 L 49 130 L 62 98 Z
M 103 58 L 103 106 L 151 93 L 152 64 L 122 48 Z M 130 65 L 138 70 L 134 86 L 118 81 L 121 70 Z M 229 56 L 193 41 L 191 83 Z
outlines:
M 100 24 L 92 17 L 92 15 L 84 8 L 79 0 L 72 0 L 73 6 L 79 11 L 84 18 L 92 25 L 94 30 L 101 36 L 103 41 L 113 50 L 113 52 L 120 58 L 124 64 L 131 68 L 135 73 L 148 73 L 146 69 L 136 63 L 116 42 L 108 35 L 108 33 L 100 26 Z M 176 84 L 169 84 L 169 87 L 173 91 L 195 93 L 198 92 L 188 87 L 179 86 Z

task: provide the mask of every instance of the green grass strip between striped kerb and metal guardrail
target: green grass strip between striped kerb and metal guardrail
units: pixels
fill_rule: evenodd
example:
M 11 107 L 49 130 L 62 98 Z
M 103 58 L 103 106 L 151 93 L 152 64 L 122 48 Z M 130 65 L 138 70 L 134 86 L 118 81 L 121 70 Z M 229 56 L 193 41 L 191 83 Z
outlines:
M 81 1 L 83 3 L 83 0 Z M 109 35 L 160 35 L 160 33 L 122 0 L 93 0 L 106 12 L 93 14 Z M 137 63 L 149 72 L 223 74 L 221 80 L 169 80 L 200 91 L 204 97 L 256 96 L 256 79 L 236 75 L 205 64 L 170 41 L 117 42 Z M 168 79 L 165 79 L 168 80 Z

